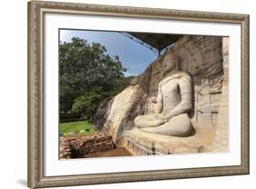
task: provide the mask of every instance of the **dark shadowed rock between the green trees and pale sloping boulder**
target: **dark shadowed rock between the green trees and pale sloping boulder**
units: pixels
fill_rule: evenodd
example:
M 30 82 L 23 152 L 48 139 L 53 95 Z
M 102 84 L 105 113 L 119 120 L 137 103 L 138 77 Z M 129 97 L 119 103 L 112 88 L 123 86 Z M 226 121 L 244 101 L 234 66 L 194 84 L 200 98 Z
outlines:
M 103 128 L 103 125 L 106 123 L 113 100 L 114 97 L 108 97 L 101 104 L 99 104 L 97 108 L 97 113 L 94 116 L 93 124 L 99 131 Z

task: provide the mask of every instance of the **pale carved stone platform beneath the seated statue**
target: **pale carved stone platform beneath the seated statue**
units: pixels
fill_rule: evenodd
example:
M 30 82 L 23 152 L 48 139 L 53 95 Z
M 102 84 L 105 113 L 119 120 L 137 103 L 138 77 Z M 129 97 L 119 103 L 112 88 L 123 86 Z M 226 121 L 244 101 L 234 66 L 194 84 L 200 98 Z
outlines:
M 133 155 L 202 153 L 210 151 L 213 135 L 213 129 L 206 131 L 200 126 L 188 137 L 150 134 L 134 128 L 125 133 L 123 144 Z

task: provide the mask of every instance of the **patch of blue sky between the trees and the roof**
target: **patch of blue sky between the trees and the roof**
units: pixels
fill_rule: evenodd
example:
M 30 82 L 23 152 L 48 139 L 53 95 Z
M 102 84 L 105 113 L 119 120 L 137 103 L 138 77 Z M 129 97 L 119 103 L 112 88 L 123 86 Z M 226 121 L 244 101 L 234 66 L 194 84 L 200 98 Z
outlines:
M 94 42 L 105 45 L 108 55 L 118 55 L 122 65 L 128 69 L 125 75 L 143 73 L 157 58 L 150 49 L 118 32 L 60 30 L 59 37 L 61 42 L 70 42 L 72 37 L 80 37 L 86 39 L 89 44 Z

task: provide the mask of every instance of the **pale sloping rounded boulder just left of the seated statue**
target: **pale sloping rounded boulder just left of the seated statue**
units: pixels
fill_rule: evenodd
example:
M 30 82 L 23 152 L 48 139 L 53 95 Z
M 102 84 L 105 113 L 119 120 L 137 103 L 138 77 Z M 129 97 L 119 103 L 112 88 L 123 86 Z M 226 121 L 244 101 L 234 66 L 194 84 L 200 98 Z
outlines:
M 129 86 L 116 95 L 102 132 L 112 135 L 117 142 L 123 131 L 133 127 L 134 118 L 143 112 L 145 93 L 138 85 Z

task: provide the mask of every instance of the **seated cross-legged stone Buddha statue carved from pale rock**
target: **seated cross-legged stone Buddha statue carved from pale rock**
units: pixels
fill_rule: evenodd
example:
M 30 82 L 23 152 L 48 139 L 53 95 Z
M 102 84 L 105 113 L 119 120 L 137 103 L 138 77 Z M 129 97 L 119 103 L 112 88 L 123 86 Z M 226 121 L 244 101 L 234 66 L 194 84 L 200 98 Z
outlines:
M 138 115 L 134 124 L 139 130 L 170 136 L 189 136 L 194 132 L 189 119 L 192 107 L 191 78 L 189 74 L 178 71 L 179 59 L 165 56 L 162 70 L 165 72 L 159 82 L 154 114 Z

